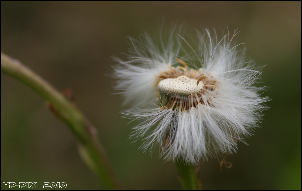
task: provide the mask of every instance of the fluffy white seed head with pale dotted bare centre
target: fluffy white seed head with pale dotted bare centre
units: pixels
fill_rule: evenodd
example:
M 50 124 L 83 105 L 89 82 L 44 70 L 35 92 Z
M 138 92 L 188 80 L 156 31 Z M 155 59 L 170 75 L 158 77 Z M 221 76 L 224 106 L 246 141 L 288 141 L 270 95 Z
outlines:
M 262 68 L 246 61 L 244 49 L 231 47 L 236 30 L 222 40 L 209 30 L 198 32 L 199 49 L 186 56 L 190 64 L 179 55 L 181 41 L 190 45 L 177 33 L 160 38 L 159 46 L 147 34 L 129 38 L 129 60 L 113 58 L 115 88 L 130 106 L 123 114 L 141 121 L 130 137 L 142 139 L 141 148 L 151 153 L 159 146 L 165 160 L 196 164 L 209 155 L 232 154 L 259 127 L 267 108 L 263 103 L 269 98 L 259 97 L 263 87 L 255 86 Z

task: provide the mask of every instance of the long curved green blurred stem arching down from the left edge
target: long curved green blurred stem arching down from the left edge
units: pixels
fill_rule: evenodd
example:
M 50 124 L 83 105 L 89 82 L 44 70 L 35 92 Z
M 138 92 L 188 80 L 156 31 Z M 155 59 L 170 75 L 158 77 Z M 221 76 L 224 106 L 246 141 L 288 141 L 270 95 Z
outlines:
M 78 138 L 80 153 L 88 166 L 99 175 L 103 188 L 119 189 L 112 166 L 97 138 L 95 127 L 74 104 L 39 75 L 4 53 L 1 53 L 1 72 L 23 82 L 45 99 L 49 109 L 67 123 Z

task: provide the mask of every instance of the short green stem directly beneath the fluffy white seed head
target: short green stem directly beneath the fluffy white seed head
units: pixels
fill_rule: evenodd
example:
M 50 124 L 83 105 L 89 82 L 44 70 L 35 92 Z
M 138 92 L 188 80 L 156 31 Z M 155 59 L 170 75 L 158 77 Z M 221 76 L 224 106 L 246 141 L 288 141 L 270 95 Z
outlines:
M 194 165 L 186 164 L 183 160 L 175 162 L 179 172 L 180 183 L 184 190 L 201 190 L 201 181 Z

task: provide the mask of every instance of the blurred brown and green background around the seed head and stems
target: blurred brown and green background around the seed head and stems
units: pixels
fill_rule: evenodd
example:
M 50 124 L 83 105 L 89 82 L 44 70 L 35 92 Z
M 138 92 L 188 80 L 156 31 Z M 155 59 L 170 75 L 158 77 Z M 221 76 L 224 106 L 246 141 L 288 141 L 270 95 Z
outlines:
M 164 18 L 164 19 L 163 19 Z M 163 22 L 164 20 L 164 22 Z M 238 29 L 235 41 L 263 69 L 267 104 L 262 128 L 228 156 L 230 169 L 208 158 L 204 189 L 301 189 L 301 2 L 1 2 L 1 51 L 59 90 L 72 88 L 97 127 L 123 189 L 181 189 L 173 162 L 139 150 L 121 118 L 111 56 L 126 53 L 126 36 L 186 23 L 186 33 Z M 185 36 L 185 37 L 188 37 Z M 244 46 L 242 46 L 244 47 Z M 66 189 L 100 189 L 82 162 L 69 128 L 35 92 L 1 74 L 1 182 L 65 182 Z

